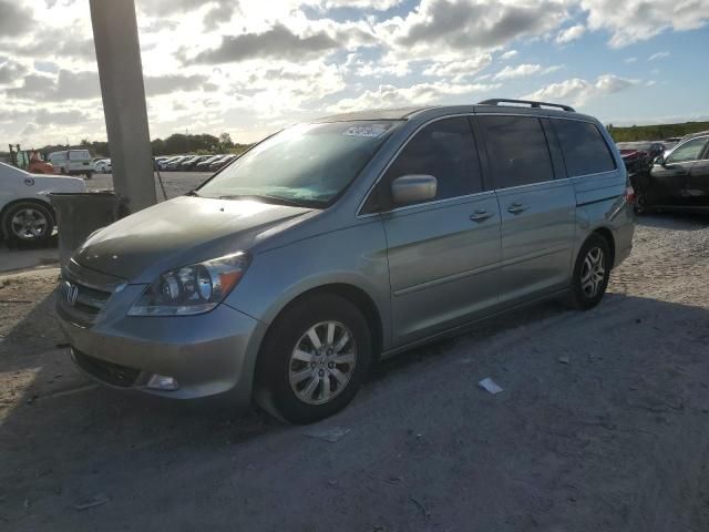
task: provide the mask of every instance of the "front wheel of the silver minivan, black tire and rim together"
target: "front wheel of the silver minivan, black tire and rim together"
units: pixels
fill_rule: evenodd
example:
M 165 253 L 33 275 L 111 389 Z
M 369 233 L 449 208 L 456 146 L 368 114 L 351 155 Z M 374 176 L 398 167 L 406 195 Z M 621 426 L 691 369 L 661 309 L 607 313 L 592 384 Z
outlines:
M 296 301 L 274 323 L 259 355 L 259 383 L 287 421 L 307 424 L 342 410 L 371 360 L 371 334 L 347 299 L 319 294 Z

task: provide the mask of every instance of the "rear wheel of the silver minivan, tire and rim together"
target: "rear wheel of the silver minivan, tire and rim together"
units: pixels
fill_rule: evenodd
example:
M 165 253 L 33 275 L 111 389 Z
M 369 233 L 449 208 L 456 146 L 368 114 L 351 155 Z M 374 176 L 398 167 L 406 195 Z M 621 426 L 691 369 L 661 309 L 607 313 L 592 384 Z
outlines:
M 600 303 L 610 279 L 610 246 L 598 234 L 592 234 L 576 257 L 568 305 L 589 310 Z

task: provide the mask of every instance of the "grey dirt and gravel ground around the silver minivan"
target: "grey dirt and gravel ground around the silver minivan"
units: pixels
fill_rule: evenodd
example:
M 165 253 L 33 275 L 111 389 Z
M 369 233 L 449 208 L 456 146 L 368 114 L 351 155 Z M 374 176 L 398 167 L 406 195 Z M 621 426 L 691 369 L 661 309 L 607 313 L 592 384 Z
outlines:
M 3 277 L 0 528 L 709 530 L 709 219 L 635 242 L 593 311 L 403 355 L 310 428 L 95 387 L 55 348 L 56 272 Z

